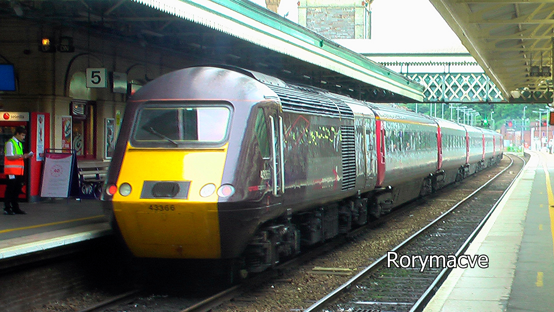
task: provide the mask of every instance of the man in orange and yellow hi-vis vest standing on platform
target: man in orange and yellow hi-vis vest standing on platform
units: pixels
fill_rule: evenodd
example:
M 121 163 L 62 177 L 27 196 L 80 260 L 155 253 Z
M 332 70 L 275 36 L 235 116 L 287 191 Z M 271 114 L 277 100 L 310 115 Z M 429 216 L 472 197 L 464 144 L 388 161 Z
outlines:
M 4 145 L 4 174 L 8 178 L 6 194 L 4 194 L 4 214 L 25 214 L 19 209 L 17 199 L 23 187 L 24 159 L 33 155 L 33 152 L 23 154 L 23 143 L 27 132 L 23 127 L 16 128 L 13 135 Z

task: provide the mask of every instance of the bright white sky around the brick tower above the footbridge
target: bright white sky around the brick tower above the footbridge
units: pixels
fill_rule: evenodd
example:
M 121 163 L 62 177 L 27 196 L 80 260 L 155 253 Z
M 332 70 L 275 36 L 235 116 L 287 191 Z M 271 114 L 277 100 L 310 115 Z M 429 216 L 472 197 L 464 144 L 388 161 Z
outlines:
M 265 7 L 265 0 L 250 0 Z M 293 22 L 298 21 L 297 0 L 281 0 L 279 14 Z M 352 51 L 358 53 L 397 53 L 397 52 L 467 52 L 460 39 L 444 21 L 429 0 L 374 0 L 371 4 L 372 32 L 371 40 L 335 39 Z M 370 57 L 376 62 L 398 61 L 398 57 Z M 475 62 L 473 57 L 404 57 L 406 62 Z M 410 72 L 444 72 L 444 66 L 419 66 L 410 68 Z M 389 67 L 401 71 L 400 66 Z M 479 66 L 455 66 L 450 70 L 457 72 L 483 72 Z

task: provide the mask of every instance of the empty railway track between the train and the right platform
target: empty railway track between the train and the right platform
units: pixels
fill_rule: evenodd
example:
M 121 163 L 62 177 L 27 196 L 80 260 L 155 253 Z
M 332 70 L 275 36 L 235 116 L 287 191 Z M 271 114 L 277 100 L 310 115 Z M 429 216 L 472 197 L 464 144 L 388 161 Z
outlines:
M 501 180 L 511 179 L 511 185 L 524 168 L 524 159 L 517 155 L 507 156 L 512 162 L 502 172 L 391 251 L 399 257 L 462 255 L 509 189 L 501 192 Z M 504 173 L 512 165 L 518 173 L 515 177 L 506 176 Z M 413 268 L 398 269 L 394 265 L 389 268 L 387 262 L 387 255 L 383 255 L 304 312 L 422 311 L 452 270 L 430 268 L 429 265 L 422 269 L 417 261 Z

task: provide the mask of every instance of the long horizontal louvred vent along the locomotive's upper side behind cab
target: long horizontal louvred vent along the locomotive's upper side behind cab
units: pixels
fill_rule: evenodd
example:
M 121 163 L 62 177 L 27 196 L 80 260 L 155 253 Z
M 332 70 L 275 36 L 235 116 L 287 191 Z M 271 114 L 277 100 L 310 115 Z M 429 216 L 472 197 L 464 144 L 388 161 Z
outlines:
M 354 113 L 348 105 L 337 98 L 329 98 L 325 93 L 319 93 L 307 88 L 284 88 L 276 85 L 268 85 L 279 99 L 284 111 L 295 113 L 310 113 L 330 117 L 353 119 Z

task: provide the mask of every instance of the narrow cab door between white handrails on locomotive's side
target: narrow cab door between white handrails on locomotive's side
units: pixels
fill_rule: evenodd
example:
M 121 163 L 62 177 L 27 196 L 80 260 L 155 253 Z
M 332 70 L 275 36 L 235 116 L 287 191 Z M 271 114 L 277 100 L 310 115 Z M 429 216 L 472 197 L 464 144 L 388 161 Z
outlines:
M 285 193 L 284 125 L 276 109 L 268 109 L 271 147 L 271 193 Z

